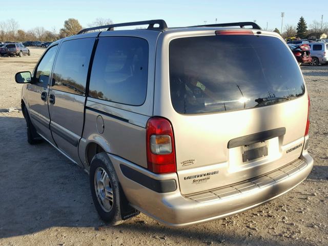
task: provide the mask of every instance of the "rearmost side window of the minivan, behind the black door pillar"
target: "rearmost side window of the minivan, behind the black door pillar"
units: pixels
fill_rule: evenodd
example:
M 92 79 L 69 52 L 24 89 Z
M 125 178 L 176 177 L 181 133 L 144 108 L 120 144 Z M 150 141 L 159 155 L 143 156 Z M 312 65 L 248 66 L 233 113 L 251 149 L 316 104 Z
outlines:
M 89 96 L 115 103 L 144 104 L 148 80 L 148 42 L 138 37 L 100 37 Z

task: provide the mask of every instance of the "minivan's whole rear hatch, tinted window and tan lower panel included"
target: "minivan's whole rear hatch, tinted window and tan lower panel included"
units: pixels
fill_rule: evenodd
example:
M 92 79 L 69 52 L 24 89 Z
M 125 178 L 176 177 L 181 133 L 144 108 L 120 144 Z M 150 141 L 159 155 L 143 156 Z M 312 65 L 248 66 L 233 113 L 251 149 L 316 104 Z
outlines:
M 167 117 L 182 194 L 276 170 L 297 159 L 304 142 L 308 97 L 290 49 L 275 36 L 216 33 L 169 46 Z

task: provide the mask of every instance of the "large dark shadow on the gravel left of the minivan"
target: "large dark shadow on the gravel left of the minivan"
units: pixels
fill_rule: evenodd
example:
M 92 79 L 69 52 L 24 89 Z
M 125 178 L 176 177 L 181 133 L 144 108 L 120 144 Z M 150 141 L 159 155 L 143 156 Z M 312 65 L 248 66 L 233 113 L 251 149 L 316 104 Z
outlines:
M 100 223 L 88 175 L 48 143 L 29 145 L 23 117 L 0 116 L 0 156 L 0 238 Z

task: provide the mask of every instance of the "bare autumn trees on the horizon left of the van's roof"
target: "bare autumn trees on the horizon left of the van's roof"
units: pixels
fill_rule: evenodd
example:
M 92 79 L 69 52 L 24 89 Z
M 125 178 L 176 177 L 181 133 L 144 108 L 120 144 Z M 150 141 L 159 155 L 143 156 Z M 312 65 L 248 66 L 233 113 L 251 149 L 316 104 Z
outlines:
M 97 18 L 88 24 L 89 27 L 104 26 L 112 24 L 111 19 Z M 77 19 L 69 18 L 65 20 L 64 27 L 57 30 L 55 27 L 46 30 L 44 27 L 35 27 L 30 30 L 19 29 L 19 24 L 15 19 L 8 19 L 0 22 L 0 41 L 2 42 L 25 42 L 42 41 L 53 42 L 59 38 L 77 34 L 83 27 Z

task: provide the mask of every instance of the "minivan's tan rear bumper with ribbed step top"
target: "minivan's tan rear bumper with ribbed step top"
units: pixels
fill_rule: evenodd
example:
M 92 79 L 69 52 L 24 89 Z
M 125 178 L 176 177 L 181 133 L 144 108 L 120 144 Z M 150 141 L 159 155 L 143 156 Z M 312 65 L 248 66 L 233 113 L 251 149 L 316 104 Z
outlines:
M 168 226 L 183 227 L 232 216 L 292 190 L 312 170 L 313 159 L 307 152 L 305 153 L 300 159 L 264 176 L 188 196 L 181 195 L 175 173 L 156 175 L 117 156 L 109 155 L 109 157 L 114 164 L 121 186 L 134 208 Z M 120 165 L 157 181 L 175 180 L 176 189 L 171 192 L 154 191 L 151 186 L 147 188 L 130 179 L 131 177 L 126 177 Z

